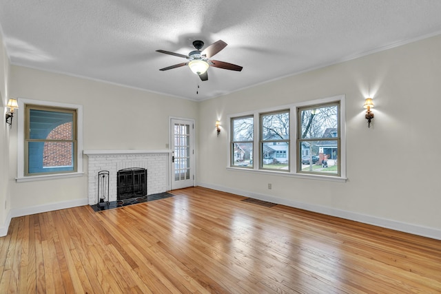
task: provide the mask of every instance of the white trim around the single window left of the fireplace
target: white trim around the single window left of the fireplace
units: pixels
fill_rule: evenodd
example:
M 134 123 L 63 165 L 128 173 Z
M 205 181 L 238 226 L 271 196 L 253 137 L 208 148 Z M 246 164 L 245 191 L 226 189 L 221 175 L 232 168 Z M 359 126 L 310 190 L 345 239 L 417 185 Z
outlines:
M 72 178 L 83 176 L 83 105 L 59 103 L 52 101 L 41 101 L 27 98 L 18 98 L 18 134 L 17 134 L 17 182 L 30 182 L 35 180 L 50 180 L 55 178 Z M 25 127 L 25 105 L 41 105 L 49 107 L 64 107 L 76 109 L 76 171 L 65 174 L 48 174 L 39 176 L 24 176 L 24 127 Z

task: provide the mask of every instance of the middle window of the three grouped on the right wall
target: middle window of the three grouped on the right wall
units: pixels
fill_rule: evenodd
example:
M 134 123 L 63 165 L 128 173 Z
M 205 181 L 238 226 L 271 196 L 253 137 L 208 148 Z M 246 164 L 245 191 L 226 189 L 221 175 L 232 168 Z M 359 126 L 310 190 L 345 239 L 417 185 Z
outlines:
M 260 126 L 260 167 L 289 170 L 289 110 L 260 114 Z

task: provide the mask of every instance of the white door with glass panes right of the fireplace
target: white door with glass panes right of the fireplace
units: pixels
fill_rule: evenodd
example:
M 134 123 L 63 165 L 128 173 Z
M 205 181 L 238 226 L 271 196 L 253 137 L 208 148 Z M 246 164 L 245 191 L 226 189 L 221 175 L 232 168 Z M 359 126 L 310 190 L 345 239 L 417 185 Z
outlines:
M 172 190 L 194 186 L 194 120 L 172 118 Z

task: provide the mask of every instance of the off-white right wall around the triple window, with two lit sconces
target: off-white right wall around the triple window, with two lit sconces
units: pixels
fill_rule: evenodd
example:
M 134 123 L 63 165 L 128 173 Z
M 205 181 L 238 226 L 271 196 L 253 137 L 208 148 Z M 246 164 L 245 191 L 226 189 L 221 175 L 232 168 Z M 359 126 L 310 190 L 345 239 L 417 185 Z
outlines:
M 441 239 L 440 52 L 436 36 L 203 101 L 198 184 Z M 225 168 L 228 115 L 338 94 L 347 101 L 347 182 Z

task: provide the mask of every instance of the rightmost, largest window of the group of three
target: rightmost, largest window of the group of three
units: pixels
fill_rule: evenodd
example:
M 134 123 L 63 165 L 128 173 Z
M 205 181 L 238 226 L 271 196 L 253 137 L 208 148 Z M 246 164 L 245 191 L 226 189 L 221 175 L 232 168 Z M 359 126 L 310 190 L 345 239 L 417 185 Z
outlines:
M 336 102 L 298 107 L 299 173 L 340 175 L 339 105 Z

